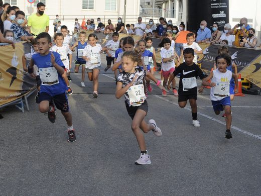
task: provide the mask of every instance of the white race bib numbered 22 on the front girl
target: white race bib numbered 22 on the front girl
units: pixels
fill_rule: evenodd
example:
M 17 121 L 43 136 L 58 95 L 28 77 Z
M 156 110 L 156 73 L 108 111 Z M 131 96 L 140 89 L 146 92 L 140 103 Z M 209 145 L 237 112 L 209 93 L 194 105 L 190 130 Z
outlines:
M 141 106 L 147 98 L 144 93 L 143 84 L 138 84 L 129 87 L 127 89 L 127 93 L 129 96 L 129 104 L 131 104 L 131 106 Z

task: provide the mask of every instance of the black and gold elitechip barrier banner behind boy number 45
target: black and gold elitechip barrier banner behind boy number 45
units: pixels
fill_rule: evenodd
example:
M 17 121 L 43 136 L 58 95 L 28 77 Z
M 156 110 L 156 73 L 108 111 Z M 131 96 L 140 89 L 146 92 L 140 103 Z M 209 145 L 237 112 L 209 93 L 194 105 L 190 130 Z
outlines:
M 215 57 L 217 56 L 217 49 L 220 47 L 219 44 L 199 44 L 203 50 L 203 54 L 199 54 L 198 65 L 202 71 L 209 74 L 211 68 L 213 68 Z M 232 61 L 237 66 L 237 72 L 240 72 L 244 68 L 250 66 L 255 62 L 257 58 L 261 56 L 261 50 L 249 49 L 249 48 L 238 48 L 233 46 L 227 46 L 229 54 L 231 55 Z M 257 62 L 256 62 L 257 63 Z M 258 62 L 260 63 L 260 62 Z M 260 68 L 260 66 L 258 66 Z M 261 76 L 259 76 L 261 78 Z

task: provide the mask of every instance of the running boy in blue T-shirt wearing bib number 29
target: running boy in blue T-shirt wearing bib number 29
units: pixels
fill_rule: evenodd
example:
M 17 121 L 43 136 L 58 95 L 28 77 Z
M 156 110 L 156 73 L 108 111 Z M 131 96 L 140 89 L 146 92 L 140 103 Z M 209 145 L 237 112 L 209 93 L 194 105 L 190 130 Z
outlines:
M 51 123 L 56 120 L 55 107 L 61 110 L 68 125 L 68 141 L 75 142 L 75 130 L 72 125 L 72 115 L 69 112 L 68 99 L 65 91 L 68 89 L 64 77 L 67 77 L 64 71 L 64 64 L 57 52 L 50 52 L 52 47 L 51 36 L 48 33 L 40 33 L 37 36 L 37 47 L 39 53 L 32 56 L 28 72 L 33 73 L 34 64 L 39 69 L 39 75 L 42 81 L 39 97 L 39 111 L 48 112 L 48 119 Z

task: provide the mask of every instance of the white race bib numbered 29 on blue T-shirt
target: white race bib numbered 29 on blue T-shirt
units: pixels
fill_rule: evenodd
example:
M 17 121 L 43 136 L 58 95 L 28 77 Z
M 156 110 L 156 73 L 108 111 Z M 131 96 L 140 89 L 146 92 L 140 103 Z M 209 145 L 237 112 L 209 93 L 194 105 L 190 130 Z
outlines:
M 42 85 L 51 86 L 59 83 L 58 73 L 54 67 L 39 68 Z

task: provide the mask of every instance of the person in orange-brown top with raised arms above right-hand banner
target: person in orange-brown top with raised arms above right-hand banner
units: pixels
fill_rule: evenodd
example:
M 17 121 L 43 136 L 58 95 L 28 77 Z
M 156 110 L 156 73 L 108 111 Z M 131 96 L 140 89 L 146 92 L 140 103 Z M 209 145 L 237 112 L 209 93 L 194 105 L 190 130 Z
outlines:
M 240 47 L 239 42 L 242 41 L 242 37 L 248 36 L 248 30 L 251 27 L 247 24 L 247 18 L 241 18 L 239 24 L 236 24 L 230 31 L 229 34 L 235 36 L 235 46 Z

